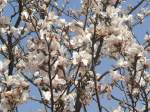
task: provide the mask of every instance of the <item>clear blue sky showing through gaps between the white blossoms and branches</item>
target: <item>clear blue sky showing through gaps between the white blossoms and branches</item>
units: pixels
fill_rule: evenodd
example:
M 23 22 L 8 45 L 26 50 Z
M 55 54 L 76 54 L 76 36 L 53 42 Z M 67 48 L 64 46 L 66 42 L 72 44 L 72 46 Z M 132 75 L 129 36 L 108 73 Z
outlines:
M 63 1 L 63 0 L 61 0 L 61 1 Z M 128 2 L 131 3 L 133 6 L 135 4 L 137 4 L 139 1 L 140 0 L 128 0 Z M 60 4 L 61 4 L 61 2 L 60 2 Z M 71 0 L 71 3 L 69 4 L 69 7 L 74 8 L 74 9 L 79 8 L 80 7 L 80 0 Z M 126 8 L 127 4 L 126 3 L 122 4 L 122 7 Z M 5 12 L 6 15 L 10 15 L 10 13 L 12 13 L 12 9 L 8 6 L 4 12 Z M 14 19 L 14 21 L 15 21 L 15 19 Z M 137 39 L 141 43 L 143 43 L 145 32 L 150 32 L 150 17 L 147 17 L 144 20 L 143 24 L 137 25 L 133 29 L 133 31 L 134 31 L 135 36 L 137 37 Z M 103 60 L 102 64 L 97 67 L 97 72 L 104 73 L 113 64 L 114 64 L 114 62 L 112 60 L 105 59 L 105 60 Z M 37 92 L 37 89 L 33 86 L 31 86 L 31 88 L 32 88 L 32 91 L 30 92 L 30 94 L 32 94 L 32 96 L 37 97 L 37 99 L 38 99 L 39 94 Z M 121 94 L 119 94 L 117 90 L 113 91 L 113 94 L 116 94 L 118 97 L 121 96 Z M 106 99 L 103 99 L 102 104 L 106 104 L 109 108 L 114 108 L 114 106 L 116 106 L 116 105 L 113 105 L 114 104 L 113 102 L 108 103 L 106 101 L 107 101 Z M 19 109 L 19 112 L 36 112 L 36 110 L 40 107 L 43 107 L 43 106 L 40 105 L 39 103 L 36 103 L 35 101 L 34 102 L 30 101 L 29 103 L 20 105 L 18 109 Z M 91 105 L 88 107 L 88 112 L 97 112 L 96 107 L 97 106 L 96 106 L 95 103 L 91 103 Z

